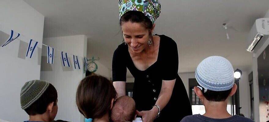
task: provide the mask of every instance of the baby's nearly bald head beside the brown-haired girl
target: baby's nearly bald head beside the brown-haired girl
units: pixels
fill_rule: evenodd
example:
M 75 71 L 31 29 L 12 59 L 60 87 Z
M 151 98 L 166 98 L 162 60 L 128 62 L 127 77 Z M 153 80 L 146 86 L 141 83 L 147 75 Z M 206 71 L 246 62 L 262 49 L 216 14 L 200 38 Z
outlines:
M 135 101 L 129 96 L 121 96 L 113 105 L 111 120 L 113 122 L 131 122 L 135 119 Z

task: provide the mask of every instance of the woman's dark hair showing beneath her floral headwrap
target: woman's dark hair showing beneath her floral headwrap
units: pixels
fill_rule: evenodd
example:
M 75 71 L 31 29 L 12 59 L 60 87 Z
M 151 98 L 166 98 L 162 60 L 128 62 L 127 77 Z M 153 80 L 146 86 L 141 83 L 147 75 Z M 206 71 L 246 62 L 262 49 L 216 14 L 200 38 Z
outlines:
M 153 28 L 151 20 L 140 11 L 128 11 L 123 14 L 123 16 L 120 18 L 120 26 L 124 22 L 129 21 L 133 23 L 141 23 L 147 30 L 151 30 Z

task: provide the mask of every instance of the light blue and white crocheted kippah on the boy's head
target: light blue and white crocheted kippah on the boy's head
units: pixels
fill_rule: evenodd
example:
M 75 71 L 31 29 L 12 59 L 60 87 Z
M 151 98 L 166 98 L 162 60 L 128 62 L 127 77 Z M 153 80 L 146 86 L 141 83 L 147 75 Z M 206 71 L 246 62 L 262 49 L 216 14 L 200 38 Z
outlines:
M 195 78 L 205 91 L 229 90 L 234 85 L 234 68 L 227 59 L 210 56 L 197 66 Z

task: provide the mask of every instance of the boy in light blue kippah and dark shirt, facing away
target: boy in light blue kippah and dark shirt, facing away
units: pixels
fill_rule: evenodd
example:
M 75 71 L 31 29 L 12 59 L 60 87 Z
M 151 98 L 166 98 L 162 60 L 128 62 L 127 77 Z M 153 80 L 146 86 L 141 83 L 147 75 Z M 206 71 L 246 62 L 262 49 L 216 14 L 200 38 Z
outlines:
M 234 68 L 221 56 L 204 59 L 195 71 L 198 86 L 195 94 L 205 105 L 205 114 L 184 117 L 181 122 L 254 122 L 227 112 L 228 97 L 234 95 L 237 85 L 234 84 Z

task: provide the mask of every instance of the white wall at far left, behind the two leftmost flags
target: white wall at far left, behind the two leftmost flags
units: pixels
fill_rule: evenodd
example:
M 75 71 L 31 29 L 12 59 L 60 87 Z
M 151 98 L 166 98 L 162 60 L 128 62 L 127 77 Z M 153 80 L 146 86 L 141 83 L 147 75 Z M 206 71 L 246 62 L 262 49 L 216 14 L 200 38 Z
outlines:
M 0 1 L 0 24 L 9 33 L 13 29 L 42 43 L 44 16 L 23 0 Z M 7 35 L 7 34 L 6 34 Z M 6 41 L 6 40 L 5 40 Z M 0 43 L 2 43 L 0 41 Z M 35 50 L 32 59 L 25 59 L 29 40 L 16 40 L 5 48 L 0 48 L 0 118 L 13 122 L 28 120 L 28 115 L 20 107 L 20 89 L 26 81 L 39 79 L 40 58 Z M 1 45 L 2 46 L 2 45 Z M 41 53 L 40 53 L 41 55 Z

